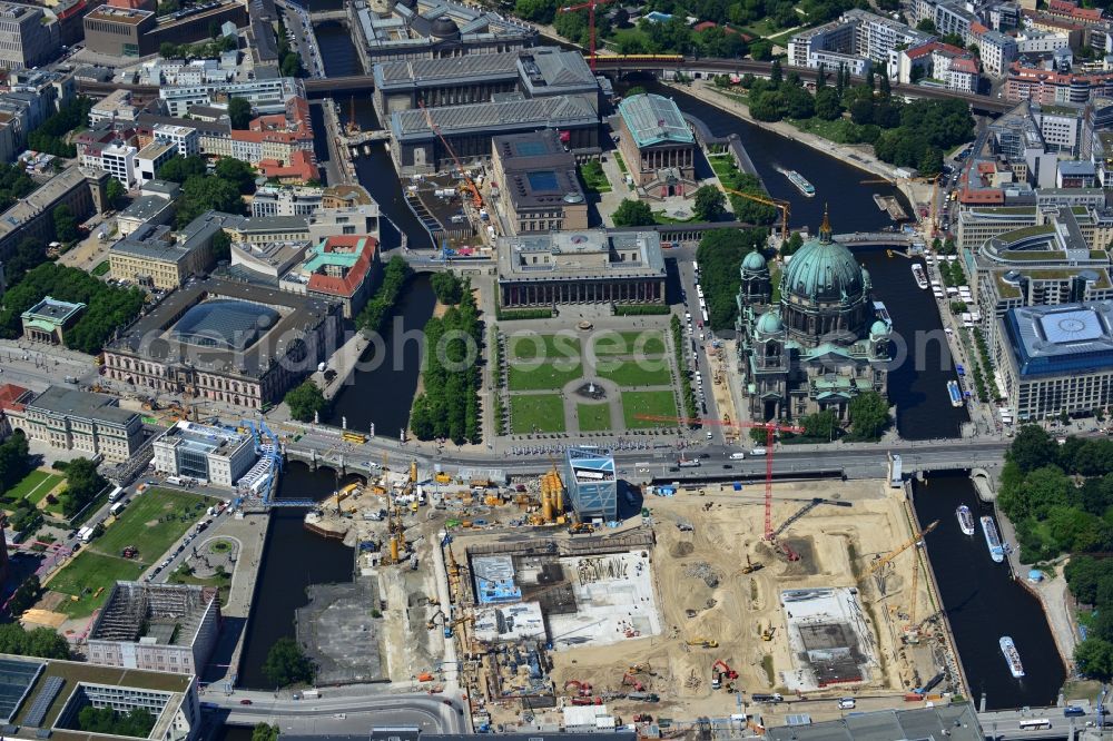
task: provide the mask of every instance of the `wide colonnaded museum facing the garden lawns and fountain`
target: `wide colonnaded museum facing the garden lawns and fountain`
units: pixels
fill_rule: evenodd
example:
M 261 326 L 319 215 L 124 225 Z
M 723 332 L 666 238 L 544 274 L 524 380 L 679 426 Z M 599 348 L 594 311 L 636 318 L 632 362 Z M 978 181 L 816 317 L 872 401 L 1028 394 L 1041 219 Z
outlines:
M 500 237 L 499 305 L 660 304 L 664 258 L 656 231 L 590 229 Z

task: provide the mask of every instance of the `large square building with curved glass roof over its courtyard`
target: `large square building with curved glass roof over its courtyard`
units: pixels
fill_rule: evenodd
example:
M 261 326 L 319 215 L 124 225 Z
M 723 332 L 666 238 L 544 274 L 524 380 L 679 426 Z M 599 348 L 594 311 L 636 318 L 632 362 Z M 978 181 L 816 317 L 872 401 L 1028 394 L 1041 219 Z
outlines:
M 195 280 L 108 344 L 105 375 L 156 392 L 268 408 L 335 352 L 341 313 L 333 302 L 277 288 Z

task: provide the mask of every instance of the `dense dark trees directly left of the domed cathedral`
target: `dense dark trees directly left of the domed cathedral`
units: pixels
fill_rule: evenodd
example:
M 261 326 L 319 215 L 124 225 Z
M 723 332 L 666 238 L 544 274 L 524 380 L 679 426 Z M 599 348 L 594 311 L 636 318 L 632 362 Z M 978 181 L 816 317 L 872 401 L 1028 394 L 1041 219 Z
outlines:
M 711 229 L 703 234 L 696 258 L 711 329 L 733 329 L 738 317 L 742 258 L 765 247 L 767 229 Z

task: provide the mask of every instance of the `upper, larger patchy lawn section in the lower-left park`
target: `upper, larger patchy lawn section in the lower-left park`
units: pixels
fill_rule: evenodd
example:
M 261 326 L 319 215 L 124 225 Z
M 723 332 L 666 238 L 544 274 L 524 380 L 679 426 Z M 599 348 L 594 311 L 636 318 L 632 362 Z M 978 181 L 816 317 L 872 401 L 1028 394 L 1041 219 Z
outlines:
M 134 496 L 119 518 L 89 547 L 118 556 L 126 546 L 134 545 L 139 549 L 138 560 L 150 565 L 214 504 L 216 500 L 199 494 L 147 490 Z

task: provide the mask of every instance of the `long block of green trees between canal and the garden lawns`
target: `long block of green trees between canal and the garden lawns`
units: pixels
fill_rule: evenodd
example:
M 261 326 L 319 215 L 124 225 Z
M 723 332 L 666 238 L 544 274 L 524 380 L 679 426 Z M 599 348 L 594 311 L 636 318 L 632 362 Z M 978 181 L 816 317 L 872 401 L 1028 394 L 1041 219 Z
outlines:
M 418 439 L 451 439 L 457 445 L 481 439 L 477 360 L 483 324 L 471 284 L 465 281 L 460 294 L 459 306 L 425 324 L 424 392 L 414 399 L 410 415 Z

